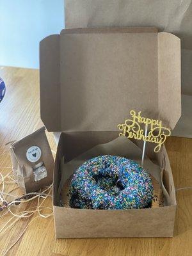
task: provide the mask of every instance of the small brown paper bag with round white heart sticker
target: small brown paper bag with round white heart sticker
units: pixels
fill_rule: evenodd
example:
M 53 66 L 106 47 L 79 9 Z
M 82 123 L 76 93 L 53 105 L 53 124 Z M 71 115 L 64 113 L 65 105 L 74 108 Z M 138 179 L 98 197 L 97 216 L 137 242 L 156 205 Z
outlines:
M 13 175 L 24 193 L 52 183 L 54 159 L 45 127 L 15 141 L 10 147 Z

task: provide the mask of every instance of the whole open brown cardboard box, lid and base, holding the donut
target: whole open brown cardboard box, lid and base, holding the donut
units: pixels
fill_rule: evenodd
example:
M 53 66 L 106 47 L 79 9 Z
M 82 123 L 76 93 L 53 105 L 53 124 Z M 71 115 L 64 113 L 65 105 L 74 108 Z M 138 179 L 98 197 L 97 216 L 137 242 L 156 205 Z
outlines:
M 163 120 L 180 118 L 180 40 L 156 28 L 63 29 L 40 42 L 40 107 L 48 131 L 61 131 L 54 166 L 56 237 L 171 237 L 176 200 L 166 148 L 147 156 L 163 170 L 164 207 L 89 210 L 58 199 L 61 158 L 118 137 L 131 109 Z M 139 143 L 140 144 L 140 143 Z M 138 145 L 139 145 L 138 144 Z

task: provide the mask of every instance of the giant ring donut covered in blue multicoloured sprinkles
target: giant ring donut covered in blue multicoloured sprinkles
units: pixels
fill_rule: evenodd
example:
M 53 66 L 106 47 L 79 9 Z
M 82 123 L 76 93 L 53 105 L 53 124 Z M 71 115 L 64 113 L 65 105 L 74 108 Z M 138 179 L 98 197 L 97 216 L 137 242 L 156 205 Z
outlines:
M 135 161 L 119 156 L 98 156 L 74 172 L 70 207 L 78 209 L 139 209 L 150 207 L 150 175 Z

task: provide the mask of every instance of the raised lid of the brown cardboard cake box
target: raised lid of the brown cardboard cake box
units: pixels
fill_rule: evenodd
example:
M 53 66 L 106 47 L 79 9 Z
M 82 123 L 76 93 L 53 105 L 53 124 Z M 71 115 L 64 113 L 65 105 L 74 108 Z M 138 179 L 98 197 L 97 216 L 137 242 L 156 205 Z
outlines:
M 48 131 L 118 131 L 129 111 L 180 118 L 180 39 L 156 28 L 63 29 L 40 42 Z

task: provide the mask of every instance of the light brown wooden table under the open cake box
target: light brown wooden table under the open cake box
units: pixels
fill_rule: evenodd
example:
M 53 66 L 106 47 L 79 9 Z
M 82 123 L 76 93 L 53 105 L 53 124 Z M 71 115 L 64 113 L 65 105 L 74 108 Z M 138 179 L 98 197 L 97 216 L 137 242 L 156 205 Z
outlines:
M 0 104 L 0 168 L 10 167 L 8 141 L 17 140 L 35 131 L 43 124 L 40 120 L 38 70 L 1 67 L 0 77 L 6 84 L 6 95 Z M 52 150 L 56 150 L 52 133 L 47 132 Z M 166 142 L 173 170 L 175 187 L 192 186 L 192 140 L 171 137 Z M 10 172 L 3 168 L 3 174 Z M 9 185 L 12 189 L 12 185 Z M 15 191 L 20 195 L 20 190 Z M 124 238 L 124 239 L 55 239 L 54 223 L 50 218 L 31 218 L 17 221 L 0 237 L 0 255 L 11 246 L 27 227 L 24 235 L 7 255 L 70 255 L 70 256 L 180 256 L 192 254 L 192 189 L 180 189 L 177 194 L 177 217 L 173 238 Z M 51 206 L 51 198 L 46 202 Z M 36 205 L 36 200 L 22 204 L 24 209 Z M 19 211 L 19 210 L 18 210 Z M 0 229 L 10 215 L 0 218 Z M 63 223 L 65 225 L 65 223 Z

